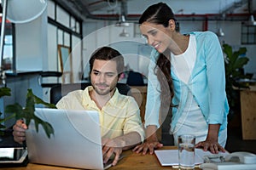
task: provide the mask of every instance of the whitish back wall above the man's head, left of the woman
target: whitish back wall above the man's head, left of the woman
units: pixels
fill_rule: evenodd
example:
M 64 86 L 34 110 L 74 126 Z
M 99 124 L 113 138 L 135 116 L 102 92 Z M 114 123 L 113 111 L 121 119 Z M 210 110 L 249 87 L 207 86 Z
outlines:
M 110 25 L 110 26 L 107 26 Z M 141 46 L 144 46 L 145 40 L 141 37 L 136 37 L 135 26 L 133 23 L 125 27 L 125 31 L 130 34 L 130 37 L 119 37 L 119 33 L 124 27 L 114 26 L 110 21 L 90 21 L 84 24 L 84 32 L 88 33 L 84 36 L 84 77 L 89 75 L 90 55 L 102 46 L 111 46 L 125 56 L 125 65 L 129 65 L 131 70 L 139 71 L 143 74 L 148 74 L 148 56 L 150 50 L 142 51 Z M 141 48 L 141 50 L 139 50 Z M 140 54 L 140 55 L 138 55 Z

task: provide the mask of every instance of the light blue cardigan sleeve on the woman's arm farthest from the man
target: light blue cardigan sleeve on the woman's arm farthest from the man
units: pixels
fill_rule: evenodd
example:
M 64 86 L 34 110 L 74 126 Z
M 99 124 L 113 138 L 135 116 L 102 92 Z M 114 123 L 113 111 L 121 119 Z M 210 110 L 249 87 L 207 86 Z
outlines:
M 207 60 L 207 81 L 209 88 L 209 124 L 222 124 L 224 121 L 225 73 L 224 55 L 218 37 L 210 32 L 205 43 Z

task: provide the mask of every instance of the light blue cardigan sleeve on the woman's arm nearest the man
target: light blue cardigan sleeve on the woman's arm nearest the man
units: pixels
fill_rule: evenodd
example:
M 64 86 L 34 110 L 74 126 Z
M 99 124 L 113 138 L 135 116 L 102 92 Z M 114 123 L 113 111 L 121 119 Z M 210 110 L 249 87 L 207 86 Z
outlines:
M 145 127 L 155 125 L 160 127 L 160 82 L 155 75 L 156 58 L 159 53 L 153 49 L 148 65 L 148 90 L 145 110 Z

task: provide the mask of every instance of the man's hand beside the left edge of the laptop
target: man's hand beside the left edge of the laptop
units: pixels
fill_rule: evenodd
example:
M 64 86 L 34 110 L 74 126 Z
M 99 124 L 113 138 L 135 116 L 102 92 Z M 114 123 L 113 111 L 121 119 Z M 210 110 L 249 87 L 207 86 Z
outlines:
M 15 142 L 22 144 L 22 142 L 26 140 L 26 129 L 26 124 L 22 120 L 16 121 L 15 126 L 13 127 Z

